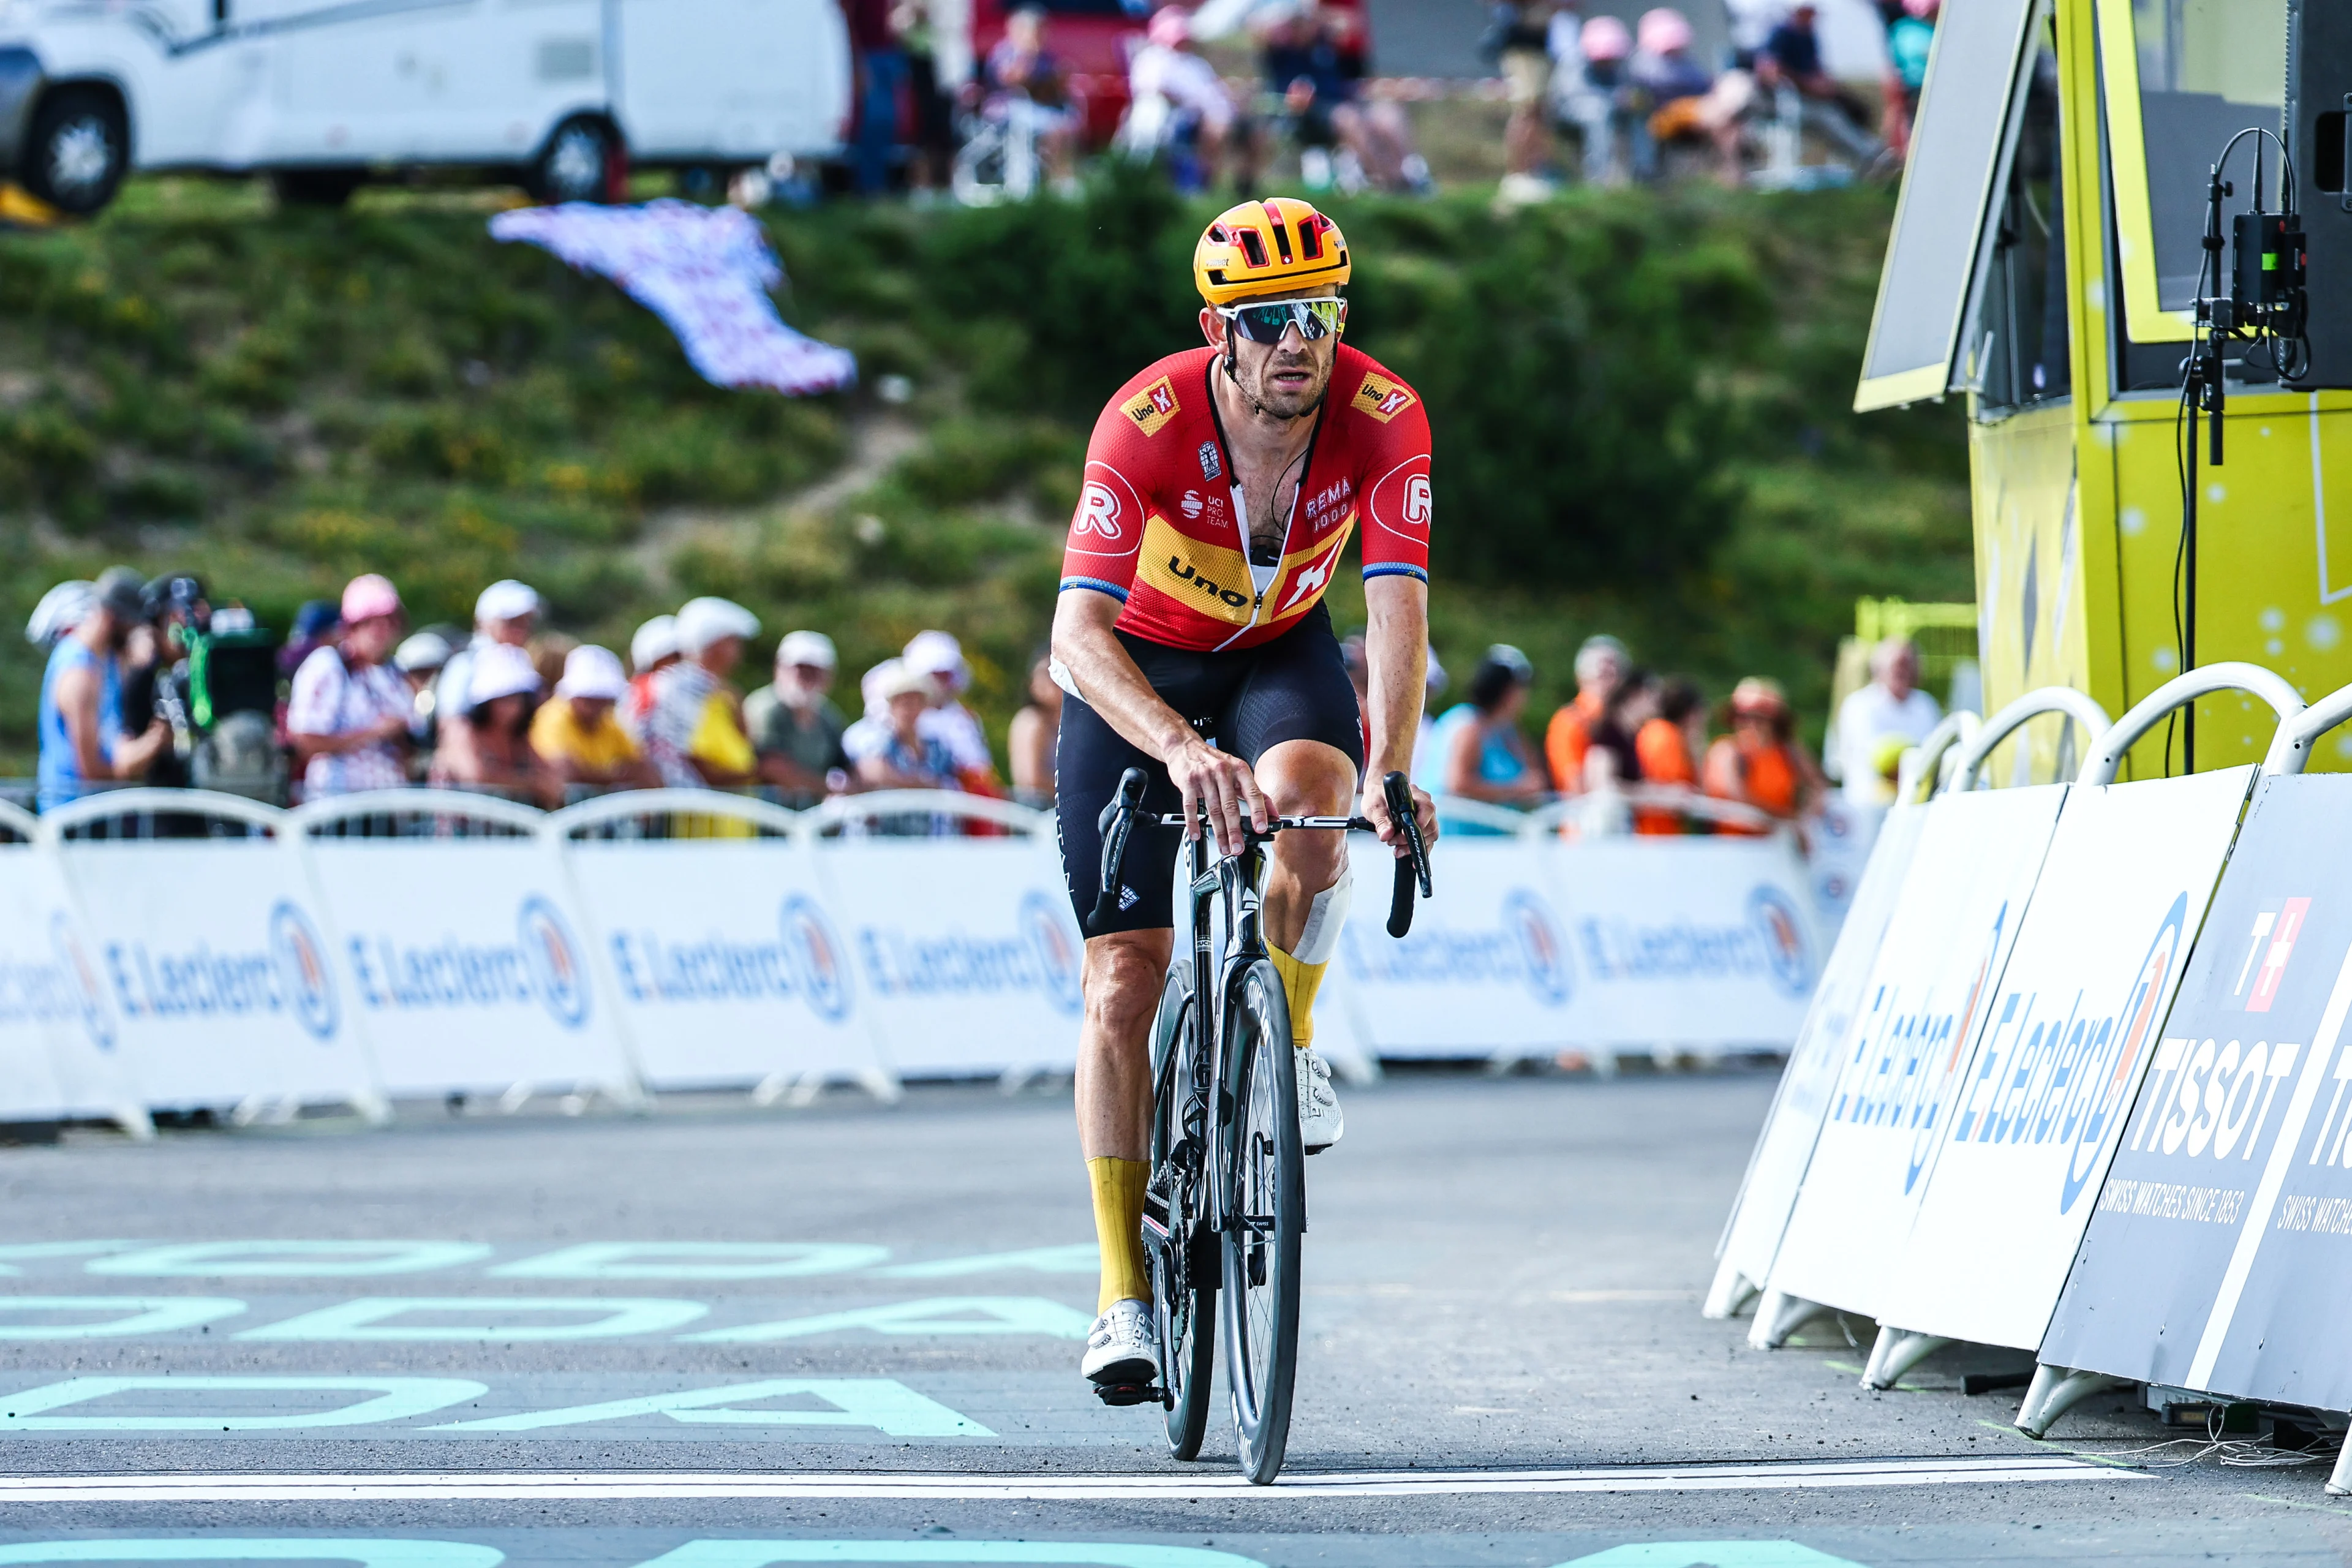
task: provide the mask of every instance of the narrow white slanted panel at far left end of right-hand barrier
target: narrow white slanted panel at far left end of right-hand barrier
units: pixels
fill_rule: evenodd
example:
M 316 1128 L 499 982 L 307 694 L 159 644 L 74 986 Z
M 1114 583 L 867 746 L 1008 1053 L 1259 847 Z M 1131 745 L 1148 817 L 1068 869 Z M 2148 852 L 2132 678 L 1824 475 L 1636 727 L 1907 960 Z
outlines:
M 1780 1072 L 1780 1088 L 1764 1117 L 1764 1131 L 1748 1157 L 1748 1178 L 1740 1182 L 1731 1222 L 1724 1227 L 1719 1267 L 1750 1284 L 1764 1281 L 1773 1253 L 1780 1251 L 1790 1206 L 1804 1182 L 1804 1166 L 1813 1159 L 1813 1143 L 1820 1138 L 1820 1121 L 1830 1110 L 1830 1091 L 1844 1065 L 1844 1046 L 1853 1030 L 1863 985 L 1879 957 L 1879 943 L 1886 938 L 1924 825 L 1926 806 L 1898 806 L 1877 827 L 1870 863 L 1853 889 L 1837 945 L 1820 969 L 1820 985 L 1813 987 L 1813 1004 L 1804 1011 L 1797 1046 Z M 1717 1295 L 1710 1293 L 1710 1300 Z

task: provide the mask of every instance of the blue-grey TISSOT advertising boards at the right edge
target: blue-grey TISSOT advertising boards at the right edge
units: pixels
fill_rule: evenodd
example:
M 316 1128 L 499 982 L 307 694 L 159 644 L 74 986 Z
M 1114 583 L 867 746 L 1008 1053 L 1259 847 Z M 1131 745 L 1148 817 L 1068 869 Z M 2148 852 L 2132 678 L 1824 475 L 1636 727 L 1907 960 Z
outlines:
M 2352 778 L 2265 778 L 2039 1354 L 2352 1408 Z

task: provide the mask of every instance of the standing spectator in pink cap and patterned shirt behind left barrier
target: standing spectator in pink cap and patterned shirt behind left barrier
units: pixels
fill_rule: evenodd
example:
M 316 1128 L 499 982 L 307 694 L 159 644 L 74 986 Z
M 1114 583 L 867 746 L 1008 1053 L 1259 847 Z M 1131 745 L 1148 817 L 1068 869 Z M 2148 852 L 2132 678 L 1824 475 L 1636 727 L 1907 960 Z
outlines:
M 416 698 L 393 668 L 400 595 L 369 571 L 343 588 L 341 635 L 310 651 L 287 698 L 287 741 L 303 799 L 397 790 L 409 780 Z

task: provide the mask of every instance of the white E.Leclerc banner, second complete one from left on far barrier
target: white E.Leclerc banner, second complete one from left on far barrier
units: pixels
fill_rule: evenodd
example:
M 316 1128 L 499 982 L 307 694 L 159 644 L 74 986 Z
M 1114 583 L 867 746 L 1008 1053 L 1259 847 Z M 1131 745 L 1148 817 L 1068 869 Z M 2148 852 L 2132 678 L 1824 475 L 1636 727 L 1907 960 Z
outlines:
M 388 1093 L 635 1095 L 553 844 L 315 837 L 308 858 Z

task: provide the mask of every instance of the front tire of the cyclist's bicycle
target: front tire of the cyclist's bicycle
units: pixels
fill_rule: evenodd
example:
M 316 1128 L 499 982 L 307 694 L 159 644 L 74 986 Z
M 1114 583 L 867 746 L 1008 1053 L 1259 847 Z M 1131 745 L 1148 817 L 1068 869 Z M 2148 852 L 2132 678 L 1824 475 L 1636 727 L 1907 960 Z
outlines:
M 1308 1161 L 1291 1013 L 1265 959 L 1235 973 L 1225 999 L 1225 1387 L 1242 1474 L 1268 1486 L 1291 1441 Z

